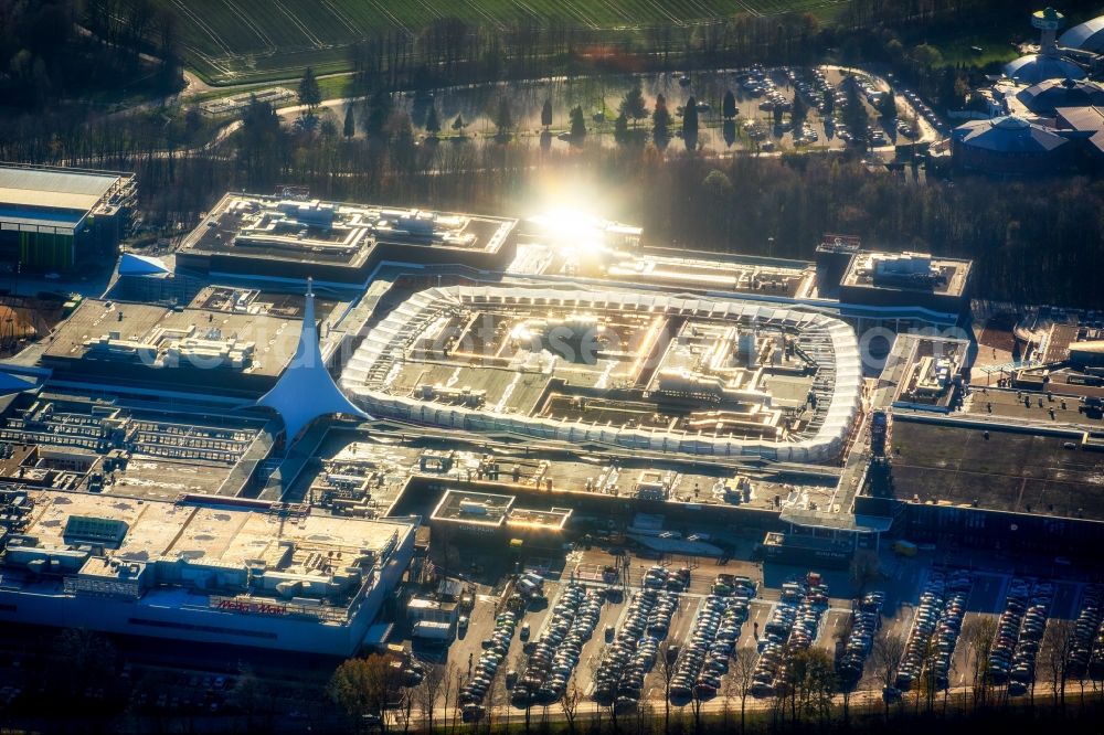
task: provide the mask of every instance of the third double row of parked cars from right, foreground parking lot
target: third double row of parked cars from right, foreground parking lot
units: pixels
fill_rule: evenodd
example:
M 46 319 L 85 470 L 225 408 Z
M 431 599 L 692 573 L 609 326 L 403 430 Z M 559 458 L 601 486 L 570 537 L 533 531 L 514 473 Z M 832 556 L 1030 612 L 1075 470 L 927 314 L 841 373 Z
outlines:
M 973 580 L 968 572 L 933 572 L 920 596 L 904 656 L 898 670 L 896 688 L 912 689 L 926 672 L 937 689 L 949 684 L 948 672 L 955 645 L 966 615 L 966 598 Z M 934 647 L 934 650 L 933 648 Z

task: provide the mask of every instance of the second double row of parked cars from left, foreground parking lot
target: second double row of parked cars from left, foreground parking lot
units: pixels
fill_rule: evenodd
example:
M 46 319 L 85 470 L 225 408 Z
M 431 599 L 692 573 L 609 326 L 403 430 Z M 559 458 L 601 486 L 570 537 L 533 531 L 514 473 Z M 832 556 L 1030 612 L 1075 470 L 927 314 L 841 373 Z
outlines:
M 583 646 L 598 625 L 604 599 L 604 593 L 587 590 L 577 583 L 564 587 L 540 640 L 526 646 L 530 649 L 529 661 L 513 686 L 514 705 L 552 704 L 563 696 Z

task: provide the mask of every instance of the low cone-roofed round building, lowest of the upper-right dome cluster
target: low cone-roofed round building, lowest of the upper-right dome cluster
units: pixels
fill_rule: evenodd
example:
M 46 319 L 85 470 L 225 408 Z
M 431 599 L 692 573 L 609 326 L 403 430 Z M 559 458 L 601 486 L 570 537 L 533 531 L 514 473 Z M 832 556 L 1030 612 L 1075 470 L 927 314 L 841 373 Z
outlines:
M 1063 169 L 1073 161 L 1073 148 L 1053 129 L 1015 116 L 972 120 L 951 136 L 956 168 L 1004 175 Z

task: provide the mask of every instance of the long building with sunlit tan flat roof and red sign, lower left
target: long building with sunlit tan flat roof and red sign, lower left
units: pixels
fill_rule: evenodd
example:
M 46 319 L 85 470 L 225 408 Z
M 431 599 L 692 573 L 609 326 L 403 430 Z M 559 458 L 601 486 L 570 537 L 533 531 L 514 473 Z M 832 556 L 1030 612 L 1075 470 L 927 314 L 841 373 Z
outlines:
M 354 653 L 415 528 L 295 507 L 0 489 L 0 619 Z

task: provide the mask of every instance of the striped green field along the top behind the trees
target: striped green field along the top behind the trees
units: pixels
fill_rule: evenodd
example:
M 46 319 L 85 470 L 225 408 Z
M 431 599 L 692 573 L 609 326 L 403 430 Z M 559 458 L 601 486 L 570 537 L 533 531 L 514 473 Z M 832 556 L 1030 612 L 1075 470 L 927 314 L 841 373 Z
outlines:
M 490 30 L 522 19 L 584 29 L 676 28 L 740 13 L 835 15 L 848 0 L 156 0 L 180 21 L 184 56 L 213 83 L 294 76 L 346 66 L 365 35 L 416 35 L 443 18 Z

